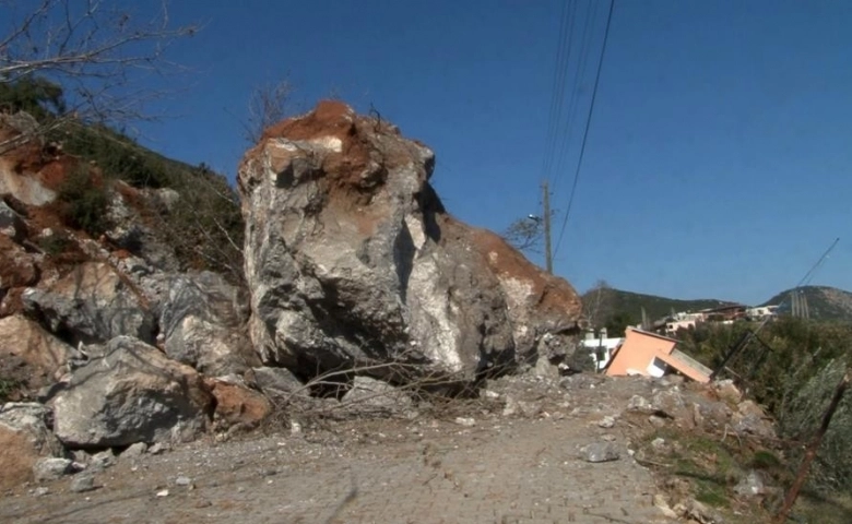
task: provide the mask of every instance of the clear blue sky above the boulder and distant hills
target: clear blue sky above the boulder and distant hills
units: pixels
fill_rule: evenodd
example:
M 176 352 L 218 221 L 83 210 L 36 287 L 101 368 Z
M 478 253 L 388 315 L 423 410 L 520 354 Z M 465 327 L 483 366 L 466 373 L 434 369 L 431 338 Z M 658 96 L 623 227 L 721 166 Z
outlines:
M 556 235 L 608 8 L 592 2 L 571 145 L 548 174 Z M 499 231 L 541 213 L 563 3 L 173 2 L 174 22 L 205 26 L 173 48 L 193 73 L 146 140 L 233 178 L 252 88 L 286 78 L 294 111 L 329 95 L 362 111 L 375 105 L 435 150 L 449 211 Z M 578 4 L 566 106 L 590 0 Z M 841 237 L 812 283 L 852 289 L 850 27 L 847 1 L 616 0 L 555 272 L 581 291 L 604 278 L 760 302 Z

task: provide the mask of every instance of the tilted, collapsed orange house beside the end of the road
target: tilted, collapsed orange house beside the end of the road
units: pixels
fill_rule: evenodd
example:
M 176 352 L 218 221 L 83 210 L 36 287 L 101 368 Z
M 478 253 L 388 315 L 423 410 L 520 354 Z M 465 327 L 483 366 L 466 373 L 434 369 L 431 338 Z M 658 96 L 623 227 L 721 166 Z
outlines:
M 606 374 L 662 377 L 674 370 L 697 382 L 709 382 L 712 370 L 678 350 L 676 345 L 675 338 L 628 327 L 624 343 L 606 367 Z

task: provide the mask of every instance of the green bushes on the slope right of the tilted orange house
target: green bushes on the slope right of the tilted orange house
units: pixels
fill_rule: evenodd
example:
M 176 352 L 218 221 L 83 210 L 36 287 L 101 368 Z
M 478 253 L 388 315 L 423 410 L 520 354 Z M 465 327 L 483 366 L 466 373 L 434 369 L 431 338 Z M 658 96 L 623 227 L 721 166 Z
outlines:
M 681 330 L 678 347 L 715 369 L 730 348 L 757 324 L 706 323 Z M 734 378 L 778 421 L 797 464 L 847 366 L 852 364 L 852 324 L 782 317 L 766 326 L 726 365 Z M 852 489 L 852 397 L 841 403 L 812 474 L 815 487 Z

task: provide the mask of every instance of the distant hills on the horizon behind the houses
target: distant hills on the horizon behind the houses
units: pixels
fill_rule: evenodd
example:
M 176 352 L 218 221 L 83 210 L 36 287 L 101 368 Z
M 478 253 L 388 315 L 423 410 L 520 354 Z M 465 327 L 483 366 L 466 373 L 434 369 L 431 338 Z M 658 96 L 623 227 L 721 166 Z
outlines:
M 760 306 L 780 305 L 780 312 L 790 314 L 792 291 L 793 289 L 781 291 Z M 805 297 L 812 319 L 852 322 L 852 293 L 829 286 L 803 286 L 797 288 L 796 293 Z M 672 311 L 700 311 L 737 303 L 714 298 L 684 300 L 625 291 L 612 287 L 590 289 L 582 295 L 582 300 L 583 309 L 592 325 L 605 325 L 614 317 L 638 323 L 641 321 L 642 308 L 644 308 L 648 319 L 653 321 L 671 314 Z

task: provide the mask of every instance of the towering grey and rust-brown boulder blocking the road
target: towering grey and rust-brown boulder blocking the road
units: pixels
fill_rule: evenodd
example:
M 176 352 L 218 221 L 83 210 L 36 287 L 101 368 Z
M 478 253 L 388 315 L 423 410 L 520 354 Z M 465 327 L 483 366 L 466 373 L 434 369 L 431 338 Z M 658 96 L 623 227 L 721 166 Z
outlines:
M 340 103 L 267 130 L 239 169 L 250 333 L 303 378 L 359 362 L 470 379 L 569 346 L 580 300 L 498 236 L 462 224 L 434 153 Z M 418 374 L 418 373 L 415 373 Z

